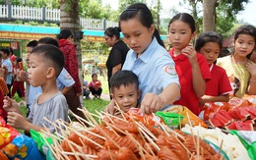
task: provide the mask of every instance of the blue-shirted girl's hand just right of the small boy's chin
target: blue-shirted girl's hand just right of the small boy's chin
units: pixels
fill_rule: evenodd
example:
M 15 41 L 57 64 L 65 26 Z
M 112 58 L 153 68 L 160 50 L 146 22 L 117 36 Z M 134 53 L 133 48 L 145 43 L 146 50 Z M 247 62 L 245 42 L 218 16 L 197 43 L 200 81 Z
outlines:
M 164 102 L 155 93 L 147 93 L 145 94 L 142 103 L 141 103 L 141 109 L 139 111 L 140 114 L 151 114 L 156 113 L 159 111 L 162 107 L 164 107 Z

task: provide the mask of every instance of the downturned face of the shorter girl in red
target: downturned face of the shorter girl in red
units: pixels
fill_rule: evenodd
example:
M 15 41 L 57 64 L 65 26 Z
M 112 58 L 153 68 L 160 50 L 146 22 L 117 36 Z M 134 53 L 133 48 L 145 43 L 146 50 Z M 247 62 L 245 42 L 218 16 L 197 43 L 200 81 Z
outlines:
M 207 42 L 199 51 L 207 60 L 213 64 L 220 55 L 220 45 L 216 42 Z

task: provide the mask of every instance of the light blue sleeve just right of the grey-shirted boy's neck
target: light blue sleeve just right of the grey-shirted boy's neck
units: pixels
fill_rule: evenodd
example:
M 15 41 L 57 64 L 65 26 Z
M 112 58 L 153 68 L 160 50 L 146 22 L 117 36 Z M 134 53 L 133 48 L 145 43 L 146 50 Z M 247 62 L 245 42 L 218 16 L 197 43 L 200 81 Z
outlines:
M 73 85 L 75 80 L 69 75 L 68 71 L 63 68 L 56 82 L 58 89 L 61 91 L 64 86 L 70 87 Z

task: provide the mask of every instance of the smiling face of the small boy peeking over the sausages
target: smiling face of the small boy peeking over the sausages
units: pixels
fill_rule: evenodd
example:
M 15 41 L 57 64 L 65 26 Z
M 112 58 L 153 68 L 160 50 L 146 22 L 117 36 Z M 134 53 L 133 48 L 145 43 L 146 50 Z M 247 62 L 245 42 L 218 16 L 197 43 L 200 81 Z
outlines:
M 119 107 L 127 112 L 131 107 L 137 107 L 141 94 L 135 84 L 129 84 L 127 86 L 121 85 L 119 88 L 115 87 L 111 95 Z

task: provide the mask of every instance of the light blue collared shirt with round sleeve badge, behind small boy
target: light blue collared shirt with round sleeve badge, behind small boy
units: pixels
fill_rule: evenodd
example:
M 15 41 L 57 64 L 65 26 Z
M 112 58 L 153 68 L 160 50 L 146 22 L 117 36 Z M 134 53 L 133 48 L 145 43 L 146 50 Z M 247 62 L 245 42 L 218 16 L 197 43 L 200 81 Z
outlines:
M 131 49 L 127 53 L 122 70 L 130 70 L 138 76 L 141 99 L 148 92 L 159 95 L 171 82 L 179 85 L 174 61 L 155 37 L 139 58 Z

